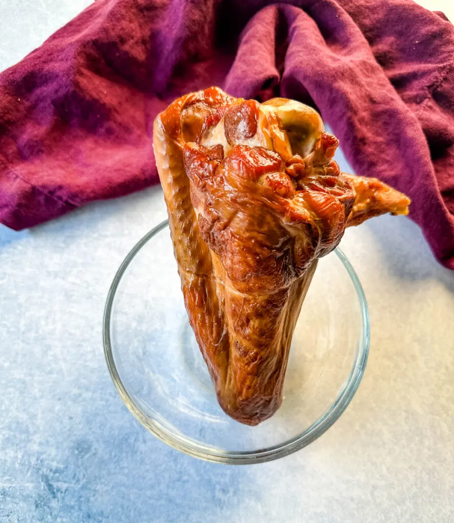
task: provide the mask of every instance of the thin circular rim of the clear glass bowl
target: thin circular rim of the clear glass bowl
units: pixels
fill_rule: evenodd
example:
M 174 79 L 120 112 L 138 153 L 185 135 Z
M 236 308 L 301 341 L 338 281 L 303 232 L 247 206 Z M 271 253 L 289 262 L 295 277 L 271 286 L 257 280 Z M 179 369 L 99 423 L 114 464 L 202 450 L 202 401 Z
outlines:
M 113 278 L 112 284 L 107 295 L 107 301 L 104 309 L 103 319 L 103 343 L 104 343 L 104 355 L 106 357 L 107 367 L 110 372 L 113 383 L 121 396 L 121 399 L 129 408 L 131 413 L 139 420 L 139 422 L 148 429 L 154 436 L 164 441 L 167 445 L 193 456 L 195 458 L 211 461 L 215 463 L 225 464 L 252 464 L 252 463 L 264 463 L 267 461 L 283 458 L 289 454 L 296 452 L 297 450 L 306 447 L 312 441 L 319 438 L 325 431 L 330 428 L 333 423 L 341 416 L 345 411 L 351 399 L 358 390 L 359 383 L 361 382 L 364 374 L 367 358 L 369 355 L 370 346 L 370 321 L 369 321 L 369 310 L 367 306 L 366 296 L 362 289 L 361 283 L 359 282 L 358 276 L 354 268 L 351 266 L 345 254 L 341 249 L 336 248 L 335 254 L 341 260 L 344 265 L 351 281 L 356 290 L 356 294 L 360 304 L 361 320 L 362 320 L 362 339 L 360 340 L 360 346 L 357 350 L 356 360 L 353 368 L 351 369 L 350 376 L 343 388 L 339 391 L 334 403 L 331 407 L 321 416 L 315 423 L 305 429 L 300 435 L 295 436 L 281 444 L 274 445 L 255 451 L 220 451 L 197 443 L 190 438 L 187 438 L 181 434 L 177 429 L 173 431 L 168 429 L 162 423 L 155 419 L 151 419 L 146 416 L 140 407 L 135 403 L 133 398 L 129 395 L 126 387 L 123 385 L 115 360 L 113 358 L 112 344 L 110 338 L 110 323 L 112 305 L 115 300 L 115 295 L 121 281 L 121 278 L 126 272 L 133 258 L 138 254 L 140 249 L 153 238 L 158 232 L 162 231 L 168 225 L 168 220 L 161 222 L 156 225 L 154 229 L 145 234 L 143 238 L 132 248 L 127 257 L 123 260 L 120 265 L 115 278 Z

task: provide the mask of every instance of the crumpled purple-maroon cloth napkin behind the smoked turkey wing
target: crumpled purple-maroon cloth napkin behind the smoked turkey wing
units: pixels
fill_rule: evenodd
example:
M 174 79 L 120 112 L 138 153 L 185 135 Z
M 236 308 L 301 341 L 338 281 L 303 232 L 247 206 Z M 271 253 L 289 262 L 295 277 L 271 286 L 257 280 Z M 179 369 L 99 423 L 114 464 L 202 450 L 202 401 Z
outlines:
M 316 106 L 454 269 L 453 63 L 454 26 L 411 0 L 97 0 L 0 75 L 0 221 L 157 183 L 157 112 L 219 85 Z

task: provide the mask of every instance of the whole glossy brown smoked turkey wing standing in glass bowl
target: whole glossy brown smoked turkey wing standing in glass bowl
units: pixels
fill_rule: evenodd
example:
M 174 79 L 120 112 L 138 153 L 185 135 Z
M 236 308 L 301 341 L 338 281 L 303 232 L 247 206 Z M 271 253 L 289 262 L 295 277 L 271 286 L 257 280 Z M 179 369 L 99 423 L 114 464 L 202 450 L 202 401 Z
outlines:
M 223 410 L 257 425 L 282 402 L 293 330 L 317 259 L 345 227 L 410 201 L 339 173 L 338 141 L 297 102 L 212 87 L 154 123 L 189 321 Z

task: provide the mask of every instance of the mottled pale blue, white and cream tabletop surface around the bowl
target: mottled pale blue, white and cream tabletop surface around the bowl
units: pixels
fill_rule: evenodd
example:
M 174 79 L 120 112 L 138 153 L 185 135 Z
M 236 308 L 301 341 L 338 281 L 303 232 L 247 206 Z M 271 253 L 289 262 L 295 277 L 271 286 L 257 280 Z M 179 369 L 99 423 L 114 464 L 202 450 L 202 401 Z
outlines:
M 5 0 L 0 69 L 89 3 Z M 29 231 L 0 226 L 0 522 L 452 523 L 454 273 L 417 226 L 384 217 L 342 241 L 372 325 L 346 412 L 292 456 L 231 467 L 147 433 L 104 360 L 112 278 L 165 218 L 155 187 Z

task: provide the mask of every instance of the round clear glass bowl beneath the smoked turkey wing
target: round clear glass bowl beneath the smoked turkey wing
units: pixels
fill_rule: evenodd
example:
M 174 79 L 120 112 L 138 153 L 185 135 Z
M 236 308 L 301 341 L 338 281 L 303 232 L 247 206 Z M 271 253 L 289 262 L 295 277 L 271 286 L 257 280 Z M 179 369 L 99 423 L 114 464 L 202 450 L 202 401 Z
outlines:
M 152 434 L 197 458 L 260 463 L 321 436 L 354 396 L 369 351 L 364 291 L 345 255 L 320 260 L 293 335 L 282 406 L 256 427 L 218 405 L 188 322 L 168 222 L 121 264 L 104 313 L 107 365 L 124 403 Z

